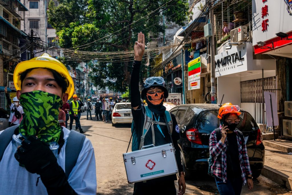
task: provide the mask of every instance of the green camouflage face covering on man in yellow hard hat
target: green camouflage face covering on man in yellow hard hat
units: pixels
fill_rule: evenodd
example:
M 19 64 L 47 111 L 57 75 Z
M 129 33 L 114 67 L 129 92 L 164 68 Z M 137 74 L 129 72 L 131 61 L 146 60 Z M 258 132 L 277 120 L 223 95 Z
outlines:
M 19 132 L 25 137 L 36 135 L 45 143 L 58 142 L 61 134 L 58 122 L 61 98 L 43 91 L 32 91 L 20 95 L 20 104 L 25 116 L 19 125 Z

